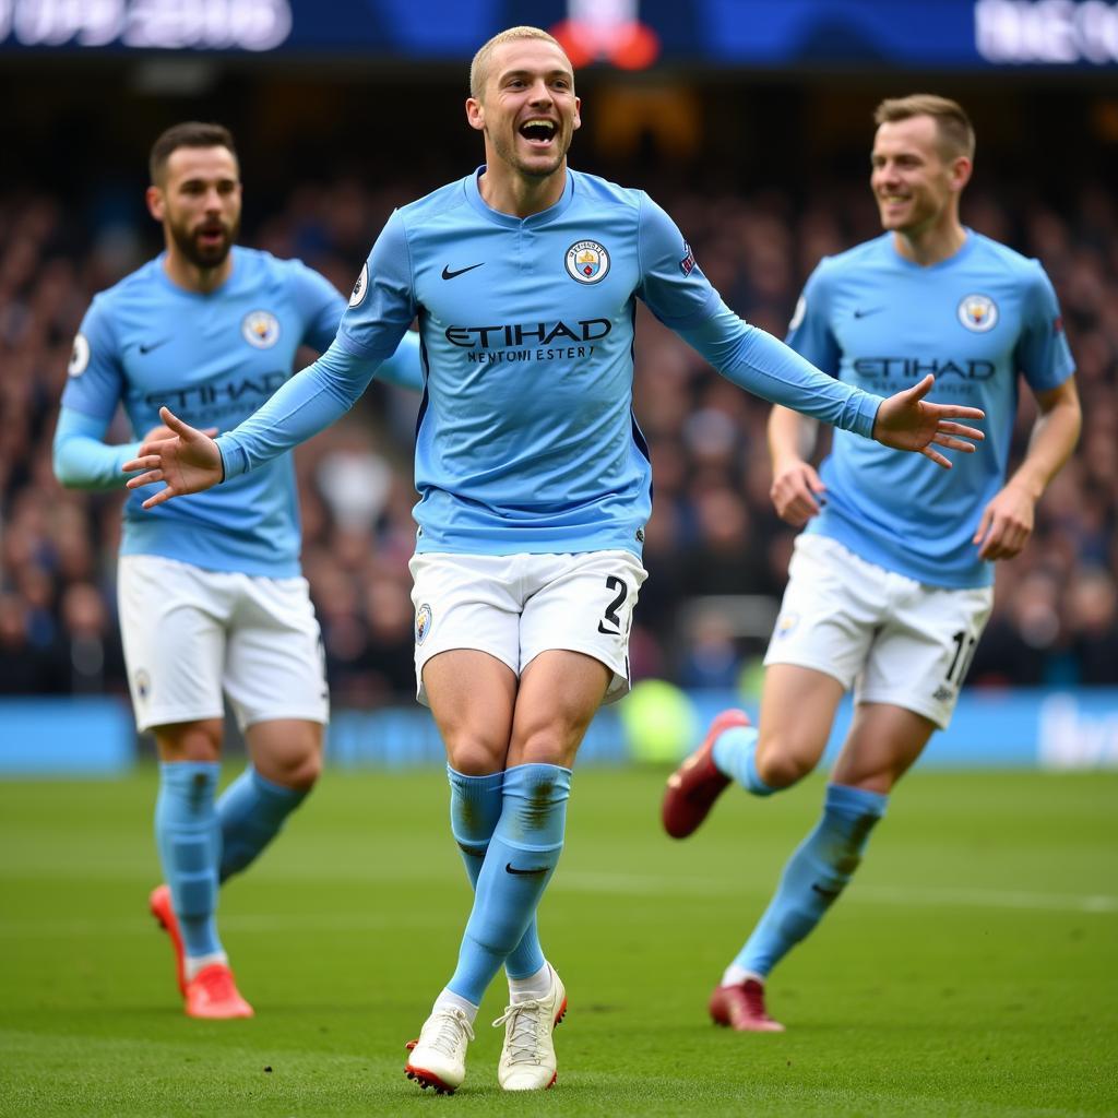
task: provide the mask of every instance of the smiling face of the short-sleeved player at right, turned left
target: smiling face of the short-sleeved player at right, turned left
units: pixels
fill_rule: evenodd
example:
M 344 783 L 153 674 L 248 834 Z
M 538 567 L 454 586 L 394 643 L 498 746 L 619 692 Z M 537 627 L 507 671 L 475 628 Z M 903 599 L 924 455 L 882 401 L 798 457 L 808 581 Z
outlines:
M 945 159 L 931 116 L 910 116 L 878 127 L 870 187 L 882 228 L 919 236 L 950 211 L 966 182 L 969 160 Z

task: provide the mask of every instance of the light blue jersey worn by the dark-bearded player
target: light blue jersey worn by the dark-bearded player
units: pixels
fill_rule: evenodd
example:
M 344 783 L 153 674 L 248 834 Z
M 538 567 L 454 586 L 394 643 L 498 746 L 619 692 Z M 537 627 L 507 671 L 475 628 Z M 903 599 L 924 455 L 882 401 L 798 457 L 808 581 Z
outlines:
M 233 273 L 209 294 L 168 277 L 161 255 L 97 295 L 82 322 L 63 394 L 55 468 L 70 485 L 119 486 L 136 446 L 101 443 L 119 402 L 138 438 L 167 405 L 195 427 L 227 430 L 292 373 L 300 345 L 323 351 L 345 300 L 299 260 L 233 249 Z M 389 378 L 421 387 L 418 340 Z M 290 456 L 212 492 L 151 511 L 129 499 L 123 555 L 157 555 L 209 570 L 290 578 L 300 571 L 299 502 Z

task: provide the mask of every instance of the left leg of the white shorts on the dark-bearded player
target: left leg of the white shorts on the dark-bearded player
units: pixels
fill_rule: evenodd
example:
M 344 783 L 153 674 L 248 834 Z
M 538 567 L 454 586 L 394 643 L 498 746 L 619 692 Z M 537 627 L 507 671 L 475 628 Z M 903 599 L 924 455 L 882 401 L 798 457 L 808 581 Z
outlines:
M 161 556 L 122 556 L 121 641 L 141 730 L 221 719 L 228 578 Z

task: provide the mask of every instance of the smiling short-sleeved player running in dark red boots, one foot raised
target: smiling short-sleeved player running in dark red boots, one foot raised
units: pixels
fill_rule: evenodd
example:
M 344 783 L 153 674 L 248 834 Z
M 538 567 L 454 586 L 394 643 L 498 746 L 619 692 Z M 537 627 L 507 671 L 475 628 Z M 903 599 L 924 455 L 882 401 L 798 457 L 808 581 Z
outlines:
M 1079 434 L 1048 276 L 959 222 L 974 158 L 966 114 L 913 95 L 882 102 L 875 120 L 871 187 L 885 233 L 818 265 L 788 344 L 870 391 L 932 373 L 936 399 L 986 413 L 986 444 L 945 473 L 840 430 L 817 474 L 802 456 L 812 433 L 795 413 L 773 410 L 773 502 L 807 527 L 765 659 L 760 727 L 740 711 L 716 719 L 669 780 L 666 830 L 691 834 L 733 780 L 768 796 L 812 771 L 852 685 L 855 717 L 822 819 L 711 996 L 714 1021 L 740 1031 L 783 1029 L 766 1011 L 765 980 L 845 888 L 892 786 L 947 728 L 989 615 L 993 561 L 1025 546 L 1036 501 Z M 1018 372 L 1040 414 L 1006 481 Z

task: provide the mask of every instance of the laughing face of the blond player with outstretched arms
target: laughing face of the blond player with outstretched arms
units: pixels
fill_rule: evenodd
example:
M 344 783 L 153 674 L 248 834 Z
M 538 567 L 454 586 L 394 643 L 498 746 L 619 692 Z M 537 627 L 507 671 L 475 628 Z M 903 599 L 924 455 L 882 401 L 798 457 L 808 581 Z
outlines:
M 546 179 L 563 164 L 582 123 L 567 56 L 542 39 L 517 39 L 490 57 L 485 91 L 470 98 L 470 123 L 485 133 L 486 157 Z

